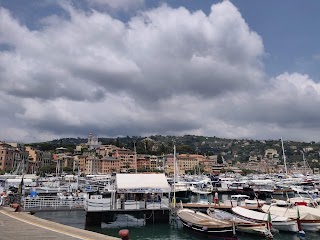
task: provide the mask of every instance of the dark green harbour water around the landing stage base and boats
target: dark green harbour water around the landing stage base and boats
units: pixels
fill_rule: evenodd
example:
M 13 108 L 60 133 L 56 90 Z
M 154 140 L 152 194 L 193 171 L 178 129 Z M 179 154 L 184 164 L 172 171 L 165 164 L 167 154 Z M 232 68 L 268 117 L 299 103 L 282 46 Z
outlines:
M 85 212 L 42 212 L 36 213 L 37 217 L 44 218 L 50 221 L 58 222 L 72 227 L 85 229 Z M 90 228 L 87 230 L 102 233 L 109 236 L 118 237 L 119 230 L 126 228 L 130 231 L 130 239 L 135 240 L 196 240 L 204 239 L 194 235 L 187 229 L 182 228 L 180 222 L 176 224 L 150 224 L 143 226 L 143 220 L 136 219 L 130 215 L 119 215 L 115 222 L 111 224 L 102 224 L 101 228 Z M 259 236 L 241 235 L 238 237 L 241 240 L 257 240 L 264 239 Z M 295 234 L 278 233 L 274 234 L 276 240 L 299 240 Z M 319 240 L 320 233 L 307 232 L 307 240 Z

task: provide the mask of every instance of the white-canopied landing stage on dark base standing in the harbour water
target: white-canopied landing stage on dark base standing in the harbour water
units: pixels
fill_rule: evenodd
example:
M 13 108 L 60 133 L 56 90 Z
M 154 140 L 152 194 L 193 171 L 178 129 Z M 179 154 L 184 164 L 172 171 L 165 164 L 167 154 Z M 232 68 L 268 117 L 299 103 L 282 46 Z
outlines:
M 87 226 L 112 222 L 118 214 L 130 214 L 145 223 L 169 223 L 170 185 L 164 174 L 117 174 L 116 188 L 91 193 L 85 203 Z

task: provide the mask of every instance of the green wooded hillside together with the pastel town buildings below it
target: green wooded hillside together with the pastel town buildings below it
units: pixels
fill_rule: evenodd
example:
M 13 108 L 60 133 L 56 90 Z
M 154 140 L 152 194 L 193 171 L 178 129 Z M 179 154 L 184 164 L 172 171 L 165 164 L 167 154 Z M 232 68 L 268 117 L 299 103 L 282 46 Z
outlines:
M 100 138 L 101 139 L 101 138 Z M 103 138 L 102 138 L 103 139 Z M 241 172 L 284 173 L 279 141 L 229 140 L 186 135 L 182 137 L 124 137 L 99 139 L 60 139 L 32 146 L 0 142 L 0 173 L 79 172 L 165 172 L 172 175 L 175 141 L 179 174 Z M 102 144 L 103 143 L 103 144 Z M 49 145 L 49 146 L 48 146 Z M 312 172 L 319 168 L 320 143 L 284 142 L 288 171 Z M 42 151 L 39 149 L 48 149 Z M 310 166 L 304 166 L 302 150 Z M 219 159 L 219 161 L 218 161 Z M 221 161 L 222 160 L 222 161 Z

